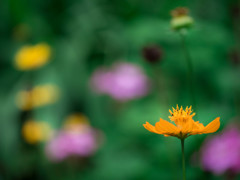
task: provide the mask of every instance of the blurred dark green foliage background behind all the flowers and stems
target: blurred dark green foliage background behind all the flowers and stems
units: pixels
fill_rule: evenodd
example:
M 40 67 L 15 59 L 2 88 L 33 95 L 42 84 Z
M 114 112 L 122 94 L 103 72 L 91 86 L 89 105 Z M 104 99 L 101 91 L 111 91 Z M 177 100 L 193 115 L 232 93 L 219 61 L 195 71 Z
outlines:
M 194 26 L 187 34 L 193 59 L 197 118 L 204 125 L 221 117 L 221 129 L 237 119 L 240 106 L 240 6 L 237 0 L 3 0 L 0 2 L 0 179 L 179 180 L 177 138 L 149 133 L 143 123 L 167 119 L 176 104 L 189 106 L 187 65 L 170 11 L 189 8 Z M 48 64 L 35 71 L 14 66 L 17 51 L 46 42 Z M 154 65 L 142 49 L 163 53 Z M 124 61 L 139 65 L 151 81 L 144 97 L 119 102 L 91 90 L 101 66 Z M 56 103 L 25 112 L 16 95 L 31 84 L 60 89 Z M 82 113 L 102 133 L 98 150 L 76 161 L 51 162 L 45 143 L 28 144 L 21 129 L 28 118 L 60 129 L 69 114 Z M 211 135 L 207 135 L 211 136 Z M 187 177 L 224 179 L 206 173 L 199 150 L 206 135 L 186 140 Z

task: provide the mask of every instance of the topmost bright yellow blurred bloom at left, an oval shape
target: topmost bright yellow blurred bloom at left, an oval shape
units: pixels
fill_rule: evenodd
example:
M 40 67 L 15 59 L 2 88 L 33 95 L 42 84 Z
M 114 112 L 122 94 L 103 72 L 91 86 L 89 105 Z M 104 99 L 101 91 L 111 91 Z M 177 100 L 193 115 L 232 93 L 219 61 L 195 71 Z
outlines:
M 32 70 L 45 65 L 50 58 L 50 46 L 44 43 L 22 47 L 15 56 L 15 65 L 19 70 Z

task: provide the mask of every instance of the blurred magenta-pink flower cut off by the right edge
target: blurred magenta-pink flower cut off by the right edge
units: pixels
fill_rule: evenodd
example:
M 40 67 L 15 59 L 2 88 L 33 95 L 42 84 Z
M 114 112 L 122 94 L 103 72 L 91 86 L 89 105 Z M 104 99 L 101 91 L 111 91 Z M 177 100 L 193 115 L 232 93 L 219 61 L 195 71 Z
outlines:
M 229 127 L 222 134 L 208 139 L 202 147 L 202 165 L 216 175 L 240 172 L 240 132 Z

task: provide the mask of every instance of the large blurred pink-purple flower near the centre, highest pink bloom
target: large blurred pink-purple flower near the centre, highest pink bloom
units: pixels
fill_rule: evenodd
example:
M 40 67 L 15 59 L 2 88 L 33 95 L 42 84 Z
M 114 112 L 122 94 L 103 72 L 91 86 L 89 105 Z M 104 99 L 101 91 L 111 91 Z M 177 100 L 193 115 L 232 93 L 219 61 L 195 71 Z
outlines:
M 142 69 L 131 63 L 117 63 L 110 69 L 97 69 L 91 79 L 92 88 L 114 99 L 126 101 L 144 96 L 149 80 Z

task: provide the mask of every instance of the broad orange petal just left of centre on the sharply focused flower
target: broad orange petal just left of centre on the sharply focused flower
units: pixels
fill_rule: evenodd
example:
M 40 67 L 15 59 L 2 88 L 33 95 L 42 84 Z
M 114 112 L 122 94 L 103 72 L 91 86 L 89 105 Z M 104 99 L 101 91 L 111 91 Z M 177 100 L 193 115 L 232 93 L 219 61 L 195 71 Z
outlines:
M 176 126 L 174 126 L 170 122 L 165 121 L 163 119 L 160 119 L 160 121 L 155 124 L 155 128 L 161 134 L 167 134 L 167 135 L 179 134 L 179 129 Z

